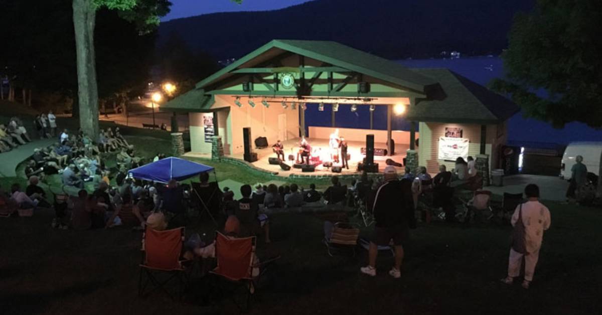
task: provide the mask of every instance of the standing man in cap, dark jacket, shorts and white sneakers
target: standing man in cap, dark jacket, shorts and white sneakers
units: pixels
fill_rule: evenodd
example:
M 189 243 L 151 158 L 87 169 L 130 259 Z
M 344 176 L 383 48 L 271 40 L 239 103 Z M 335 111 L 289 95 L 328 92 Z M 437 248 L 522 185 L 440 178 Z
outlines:
M 385 167 L 384 179 L 376 195 L 368 201 L 368 204 L 372 205 L 376 224 L 374 237 L 368 249 L 368 266 L 361 267 L 360 271 L 375 276 L 378 246 L 388 246 L 393 240 L 395 266 L 389 270 L 389 275 L 399 278 L 403 261 L 403 243 L 408 239 L 409 228 L 414 220 L 412 181 L 397 179 L 397 170 L 394 166 Z

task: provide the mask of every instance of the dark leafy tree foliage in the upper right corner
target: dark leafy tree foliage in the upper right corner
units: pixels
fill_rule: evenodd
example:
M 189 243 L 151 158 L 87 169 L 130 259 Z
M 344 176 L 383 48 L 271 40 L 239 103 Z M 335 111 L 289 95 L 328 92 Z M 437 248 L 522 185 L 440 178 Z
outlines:
M 600 0 L 538 0 L 535 10 L 515 16 L 502 54 L 507 80 L 491 87 L 512 96 L 526 116 L 556 127 L 602 127 L 600 30 Z

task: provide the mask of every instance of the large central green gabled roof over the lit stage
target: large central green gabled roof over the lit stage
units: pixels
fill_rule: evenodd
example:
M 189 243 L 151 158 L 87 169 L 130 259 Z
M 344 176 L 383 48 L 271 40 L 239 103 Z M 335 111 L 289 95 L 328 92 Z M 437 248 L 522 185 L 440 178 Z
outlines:
M 321 40 L 272 40 L 271 42 L 255 49 L 229 66 L 208 76 L 197 83 L 199 89 L 209 84 L 214 84 L 232 75 L 232 70 L 248 63 L 253 58 L 269 51 L 270 49 L 282 49 L 294 54 L 303 55 L 308 58 L 323 61 L 333 66 L 359 72 L 374 78 L 407 87 L 424 93 L 426 86 L 436 84 L 431 78 L 413 72 L 399 63 L 380 58 L 367 52 L 360 51 L 337 42 Z

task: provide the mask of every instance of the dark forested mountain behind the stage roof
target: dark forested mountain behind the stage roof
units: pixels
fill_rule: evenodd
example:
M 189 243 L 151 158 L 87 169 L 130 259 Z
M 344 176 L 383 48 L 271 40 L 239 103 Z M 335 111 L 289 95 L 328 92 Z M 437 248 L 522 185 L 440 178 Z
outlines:
M 276 11 L 171 20 L 161 24 L 158 43 L 179 36 L 193 50 L 220 59 L 241 57 L 272 39 L 335 40 L 386 58 L 498 54 L 512 17 L 532 2 L 315 0 Z

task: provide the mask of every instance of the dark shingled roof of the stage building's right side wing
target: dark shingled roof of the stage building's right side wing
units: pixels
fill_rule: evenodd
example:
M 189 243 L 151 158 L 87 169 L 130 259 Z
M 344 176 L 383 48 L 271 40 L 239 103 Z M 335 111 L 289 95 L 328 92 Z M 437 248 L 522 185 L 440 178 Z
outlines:
M 500 123 L 520 108 L 504 96 L 448 69 L 411 69 L 441 85 L 437 99 L 418 99 L 407 118 L 424 122 Z

